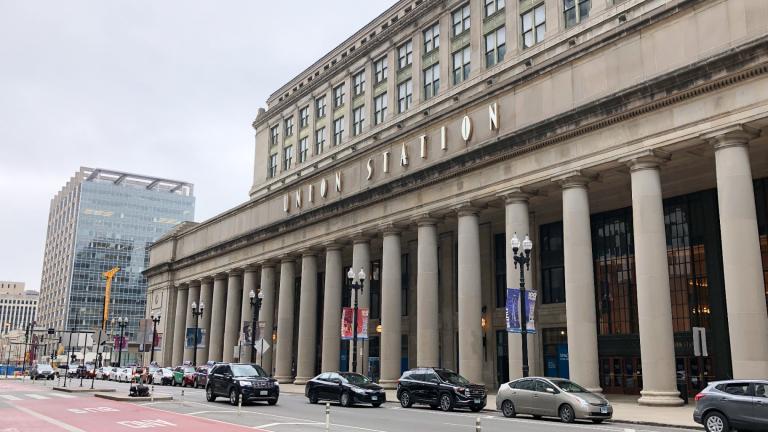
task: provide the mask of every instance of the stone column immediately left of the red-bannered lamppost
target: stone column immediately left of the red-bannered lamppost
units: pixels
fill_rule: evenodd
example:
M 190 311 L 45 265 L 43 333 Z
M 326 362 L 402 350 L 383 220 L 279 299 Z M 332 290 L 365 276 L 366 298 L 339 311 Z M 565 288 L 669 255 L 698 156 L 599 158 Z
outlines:
M 324 371 L 339 370 L 343 273 L 344 267 L 341 263 L 341 245 L 335 243 L 326 245 L 322 354 L 322 369 Z

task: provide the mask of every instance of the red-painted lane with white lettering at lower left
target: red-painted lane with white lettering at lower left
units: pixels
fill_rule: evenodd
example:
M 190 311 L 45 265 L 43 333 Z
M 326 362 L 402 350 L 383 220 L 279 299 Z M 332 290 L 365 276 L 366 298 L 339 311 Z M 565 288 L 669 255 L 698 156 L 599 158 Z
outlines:
M 136 429 L 184 432 L 259 431 L 246 426 L 173 413 L 128 402 L 95 397 L 61 400 L 24 400 L 0 409 L 0 431 L 122 432 Z

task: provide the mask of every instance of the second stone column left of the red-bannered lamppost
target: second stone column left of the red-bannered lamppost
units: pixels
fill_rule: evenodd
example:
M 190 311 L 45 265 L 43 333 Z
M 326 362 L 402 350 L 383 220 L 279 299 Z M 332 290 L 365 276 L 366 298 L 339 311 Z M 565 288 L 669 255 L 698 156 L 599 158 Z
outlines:
M 299 296 L 299 346 L 294 384 L 306 384 L 315 377 L 317 357 L 317 256 L 305 251 L 301 256 L 301 296 Z

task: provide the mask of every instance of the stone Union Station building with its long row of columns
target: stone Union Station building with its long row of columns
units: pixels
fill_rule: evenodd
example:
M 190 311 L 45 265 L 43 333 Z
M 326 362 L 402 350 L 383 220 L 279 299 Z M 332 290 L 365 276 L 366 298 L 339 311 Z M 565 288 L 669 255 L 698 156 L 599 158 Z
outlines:
M 653 405 L 681 403 L 679 380 L 768 375 L 766 18 L 753 0 L 398 2 L 259 110 L 248 202 L 153 245 L 163 361 L 192 358 L 192 301 L 198 363 L 251 360 L 261 290 L 276 346 L 254 360 L 281 382 L 358 355 L 387 386 L 443 366 L 494 387 L 521 375 L 517 233 L 532 373 Z M 357 354 L 349 267 L 369 275 Z

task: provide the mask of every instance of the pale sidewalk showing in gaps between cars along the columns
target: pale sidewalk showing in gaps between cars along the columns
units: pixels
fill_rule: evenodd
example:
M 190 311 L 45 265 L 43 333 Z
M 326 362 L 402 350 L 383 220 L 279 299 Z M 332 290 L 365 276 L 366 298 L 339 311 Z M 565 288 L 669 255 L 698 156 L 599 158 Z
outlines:
M 303 385 L 280 384 L 283 393 L 304 394 Z M 387 402 L 397 403 L 395 390 L 387 390 Z M 694 405 L 682 407 L 648 407 L 637 404 L 639 396 L 608 395 L 608 400 L 613 405 L 613 420 L 624 423 L 636 423 L 654 426 L 671 426 L 702 429 L 701 425 L 693 421 Z M 486 410 L 496 411 L 496 395 L 488 395 Z

